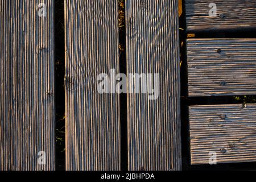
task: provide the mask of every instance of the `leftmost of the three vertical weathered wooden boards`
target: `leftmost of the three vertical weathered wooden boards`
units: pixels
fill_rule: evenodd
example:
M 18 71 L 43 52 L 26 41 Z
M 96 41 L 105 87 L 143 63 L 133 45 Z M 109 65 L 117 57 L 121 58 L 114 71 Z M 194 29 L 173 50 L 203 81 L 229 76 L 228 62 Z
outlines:
M 0 170 L 55 169 L 53 4 L 0 1 Z

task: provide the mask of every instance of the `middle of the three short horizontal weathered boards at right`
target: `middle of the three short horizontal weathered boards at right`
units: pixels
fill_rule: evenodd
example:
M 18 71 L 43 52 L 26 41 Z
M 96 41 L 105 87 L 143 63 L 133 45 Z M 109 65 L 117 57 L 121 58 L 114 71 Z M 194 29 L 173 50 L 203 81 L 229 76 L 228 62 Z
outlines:
M 189 96 L 256 94 L 256 39 L 188 39 Z

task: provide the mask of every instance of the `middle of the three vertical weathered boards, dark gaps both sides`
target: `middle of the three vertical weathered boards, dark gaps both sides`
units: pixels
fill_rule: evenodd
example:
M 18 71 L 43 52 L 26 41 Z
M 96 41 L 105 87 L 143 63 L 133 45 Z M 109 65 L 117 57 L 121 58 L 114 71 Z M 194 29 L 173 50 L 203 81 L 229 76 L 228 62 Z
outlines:
M 97 76 L 119 72 L 118 1 L 65 0 L 66 169 L 121 167 L 118 94 Z

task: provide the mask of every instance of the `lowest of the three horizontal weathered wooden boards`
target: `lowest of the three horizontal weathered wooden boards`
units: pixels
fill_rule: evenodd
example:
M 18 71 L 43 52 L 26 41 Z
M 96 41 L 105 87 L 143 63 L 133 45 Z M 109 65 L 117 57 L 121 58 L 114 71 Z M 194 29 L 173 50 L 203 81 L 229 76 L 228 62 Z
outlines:
M 256 161 L 256 104 L 189 107 L 191 164 Z

